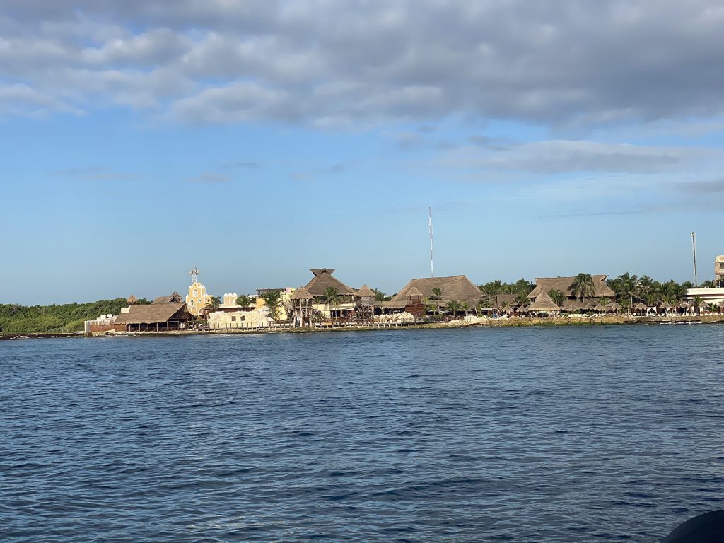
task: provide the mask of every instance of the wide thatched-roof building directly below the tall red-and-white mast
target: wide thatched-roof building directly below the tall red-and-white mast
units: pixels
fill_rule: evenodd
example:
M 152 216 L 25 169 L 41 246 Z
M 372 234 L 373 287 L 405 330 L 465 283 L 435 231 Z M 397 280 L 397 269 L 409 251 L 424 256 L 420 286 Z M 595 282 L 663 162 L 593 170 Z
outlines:
M 472 309 L 477 306 L 480 297 L 479 288 L 465 275 L 423 277 L 411 279 L 392 300 L 381 305 L 392 311 L 404 309 L 415 316 L 421 316 L 428 306 L 442 308 L 451 301 L 467 303 Z

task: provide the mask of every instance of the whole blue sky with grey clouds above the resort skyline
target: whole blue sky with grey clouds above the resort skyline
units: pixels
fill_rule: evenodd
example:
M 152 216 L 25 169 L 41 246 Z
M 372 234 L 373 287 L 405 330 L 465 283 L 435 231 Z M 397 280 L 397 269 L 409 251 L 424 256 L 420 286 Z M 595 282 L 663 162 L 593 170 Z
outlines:
M 717 2 L 3 4 L 0 302 L 724 252 Z

